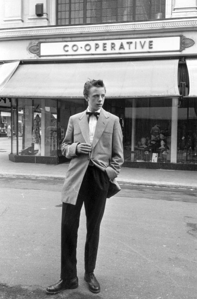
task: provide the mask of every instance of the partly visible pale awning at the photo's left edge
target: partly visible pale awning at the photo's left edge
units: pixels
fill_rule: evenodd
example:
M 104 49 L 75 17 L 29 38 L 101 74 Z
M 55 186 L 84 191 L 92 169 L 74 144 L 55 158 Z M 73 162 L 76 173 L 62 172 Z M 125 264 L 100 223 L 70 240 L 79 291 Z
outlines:
M 14 62 L 7 62 L 0 64 L 0 90 L 5 86 L 5 84 L 12 77 L 20 60 Z

